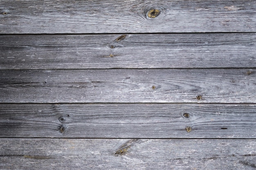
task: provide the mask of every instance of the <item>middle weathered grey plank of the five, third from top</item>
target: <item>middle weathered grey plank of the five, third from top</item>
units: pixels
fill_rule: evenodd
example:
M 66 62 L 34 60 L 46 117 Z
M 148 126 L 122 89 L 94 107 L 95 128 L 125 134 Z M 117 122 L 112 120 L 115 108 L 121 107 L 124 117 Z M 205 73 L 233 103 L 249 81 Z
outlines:
M 2 103 L 256 103 L 256 69 L 1 70 Z

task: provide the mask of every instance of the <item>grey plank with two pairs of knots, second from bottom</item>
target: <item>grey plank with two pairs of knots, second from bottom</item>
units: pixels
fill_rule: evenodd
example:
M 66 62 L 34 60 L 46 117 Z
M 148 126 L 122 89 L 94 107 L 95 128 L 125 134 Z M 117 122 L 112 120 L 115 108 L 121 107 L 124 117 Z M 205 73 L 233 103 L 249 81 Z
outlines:
M 0 137 L 255 139 L 255 115 L 255 104 L 0 104 Z

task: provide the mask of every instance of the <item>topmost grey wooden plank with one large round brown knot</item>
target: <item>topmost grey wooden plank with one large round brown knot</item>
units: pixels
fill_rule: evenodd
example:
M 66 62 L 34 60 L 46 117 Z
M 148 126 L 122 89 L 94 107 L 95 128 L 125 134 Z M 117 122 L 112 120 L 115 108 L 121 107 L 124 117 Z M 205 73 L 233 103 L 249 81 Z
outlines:
M 255 0 L 1 0 L 0 33 L 255 32 Z

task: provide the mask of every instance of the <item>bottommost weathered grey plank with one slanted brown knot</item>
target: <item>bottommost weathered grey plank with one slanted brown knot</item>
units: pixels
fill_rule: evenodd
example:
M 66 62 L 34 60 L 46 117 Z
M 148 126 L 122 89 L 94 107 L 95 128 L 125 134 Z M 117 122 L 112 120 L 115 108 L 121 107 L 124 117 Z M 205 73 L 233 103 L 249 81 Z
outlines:
M 2 169 L 235 170 L 256 168 L 256 140 L 0 140 Z

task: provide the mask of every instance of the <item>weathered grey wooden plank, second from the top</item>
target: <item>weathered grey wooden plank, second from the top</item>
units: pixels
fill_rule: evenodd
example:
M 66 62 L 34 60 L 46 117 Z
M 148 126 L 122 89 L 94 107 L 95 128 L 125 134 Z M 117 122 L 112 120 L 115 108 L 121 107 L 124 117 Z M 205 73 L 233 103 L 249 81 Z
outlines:
M 0 35 L 0 39 L 0 69 L 256 66 L 256 33 Z

